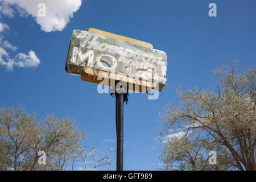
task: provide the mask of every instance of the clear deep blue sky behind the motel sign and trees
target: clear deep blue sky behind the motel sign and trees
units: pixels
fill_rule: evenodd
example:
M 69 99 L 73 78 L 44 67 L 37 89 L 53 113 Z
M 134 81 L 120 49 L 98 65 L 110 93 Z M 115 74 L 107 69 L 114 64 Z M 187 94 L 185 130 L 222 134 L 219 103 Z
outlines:
M 212 2 L 217 5 L 216 17 L 208 15 L 208 5 Z M 46 3 L 51 11 L 61 9 L 49 6 Z M 33 11 L 26 9 L 28 6 L 23 11 L 17 11 L 15 3 L 10 7 L 14 8 L 13 16 L 11 11 L 9 14 L 0 11 L 0 22 L 9 27 L 0 33 L 2 42 L 6 40 L 16 49 L 5 50 L 10 59 L 18 60 L 35 60 L 28 53 L 33 51 L 40 64 L 37 67 L 16 64 L 13 70 L 0 64 L 0 107 L 23 104 L 28 113 L 36 112 L 41 119 L 50 113 L 59 118 L 74 118 L 81 129 L 91 134 L 85 141 L 88 148 L 98 143 L 100 151 L 112 147 L 115 154 L 115 98 L 99 94 L 96 84 L 65 72 L 72 31 L 93 27 L 151 43 L 155 49 L 167 53 L 167 82 L 159 98 L 148 100 L 148 94 L 130 94 L 125 105 L 125 170 L 155 170 L 153 164 L 160 163 L 163 144 L 156 139 L 158 128 L 162 127 L 159 112 L 168 102 L 179 103 L 175 86 L 214 89 L 216 79 L 210 71 L 221 64 L 231 65 L 236 59 L 241 65 L 255 65 L 254 0 L 88 0 L 77 5 L 77 11 L 71 10 L 76 12 L 62 29 L 61 25 L 57 26 L 61 30 L 37 22 L 31 16 Z M 38 10 L 38 7 L 30 8 Z M 6 57 L 2 59 L 7 62 Z

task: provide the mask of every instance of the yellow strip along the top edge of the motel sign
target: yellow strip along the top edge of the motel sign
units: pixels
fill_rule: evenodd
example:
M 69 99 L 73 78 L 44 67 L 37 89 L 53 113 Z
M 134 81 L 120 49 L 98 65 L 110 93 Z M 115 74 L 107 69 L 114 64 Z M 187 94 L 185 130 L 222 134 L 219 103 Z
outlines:
M 126 42 L 130 42 L 133 44 L 137 44 L 140 46 L 144 46 L 144 47 L 148 47 L 148 48 L 153 48 L 152 44 L 147 43 L 147 42 L 143 42 L 141 40 L 136 40 L 136 39 L 132 39 L 132 38 L 127 38 L 126 36 L 122 36 L 122 35 L 117 35 L 117 34 L 112 34 L 110 32 L 106 32 L 103 30 L 98 30 L 96 28 L 89 28 L 88 30 L 89 32 L 95 33 L 95 34 L 101 34 L 101 35 L 105 35 L 105 36 L 109 36 L 110 38 L 114 38 L 114 39 L 119 39 L 119 40 L 123 40 Z

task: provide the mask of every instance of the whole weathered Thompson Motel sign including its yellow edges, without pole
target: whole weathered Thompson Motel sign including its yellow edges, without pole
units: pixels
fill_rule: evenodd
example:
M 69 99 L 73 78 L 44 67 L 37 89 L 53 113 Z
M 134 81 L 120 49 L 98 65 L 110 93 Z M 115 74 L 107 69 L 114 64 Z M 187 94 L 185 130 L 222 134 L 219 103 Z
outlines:
M 129 90 L 148 93 L 166 84 L 167 56 L 139 40 L 94 28 L 74 30 L 65 69 L 84 81 L 110 86 L 123 81 Z

